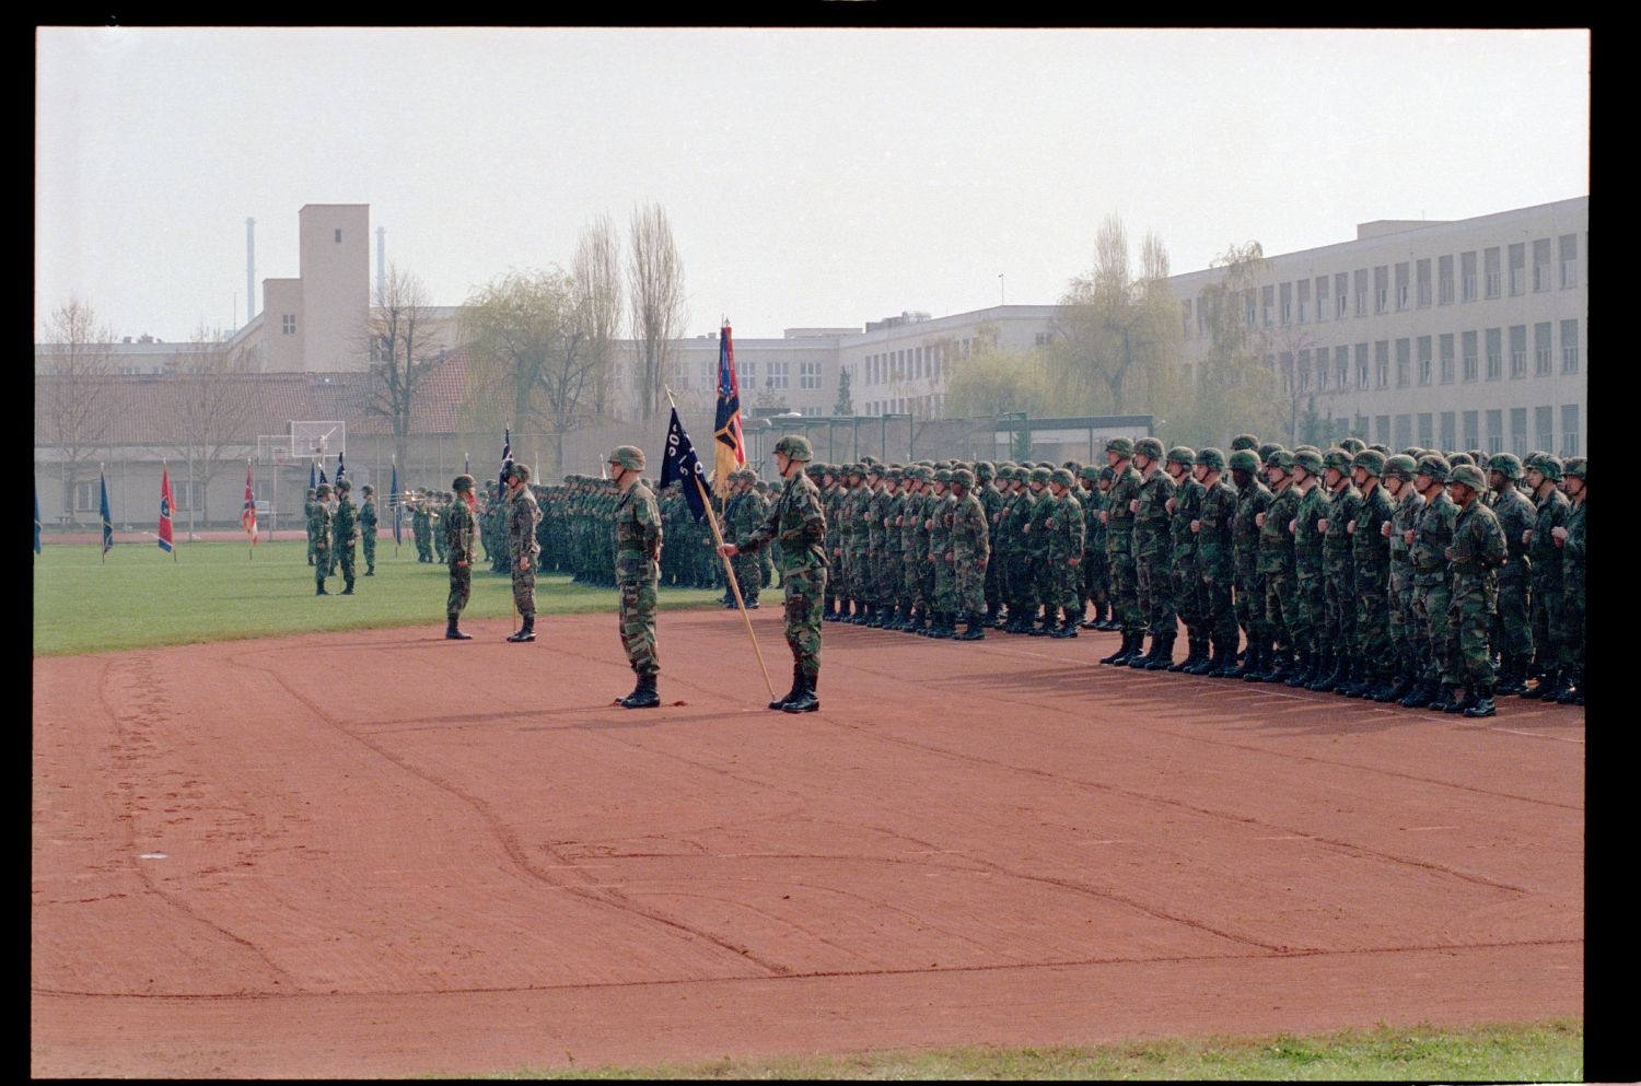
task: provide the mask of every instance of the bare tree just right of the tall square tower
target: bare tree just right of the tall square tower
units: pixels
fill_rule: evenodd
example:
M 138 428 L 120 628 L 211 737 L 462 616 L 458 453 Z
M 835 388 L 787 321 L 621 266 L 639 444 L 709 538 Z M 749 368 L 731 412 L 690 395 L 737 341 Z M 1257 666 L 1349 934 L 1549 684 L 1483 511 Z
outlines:
M 397 463 L 409 464 L 412 415 L 423 382 L 438 364 L 445 343 L 427 303 L 422 281 L 397 264 L 376 292 L 366 325 L 371 359 L 371 400 L 366 413 L 387 420 Z

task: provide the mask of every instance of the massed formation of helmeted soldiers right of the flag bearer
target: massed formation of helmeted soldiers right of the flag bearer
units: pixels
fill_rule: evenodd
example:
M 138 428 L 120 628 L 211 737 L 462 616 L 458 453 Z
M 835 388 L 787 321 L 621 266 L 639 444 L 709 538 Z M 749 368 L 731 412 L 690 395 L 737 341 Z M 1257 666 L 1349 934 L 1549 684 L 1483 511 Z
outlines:
M 811 464 L 825 617 L 957 640 L 1116 630 L 1104 664 L 1470 717 L 1498 694 L 1582 704 L 1585 458 L 1231 448 L 1113 438 L 1103 468 Z

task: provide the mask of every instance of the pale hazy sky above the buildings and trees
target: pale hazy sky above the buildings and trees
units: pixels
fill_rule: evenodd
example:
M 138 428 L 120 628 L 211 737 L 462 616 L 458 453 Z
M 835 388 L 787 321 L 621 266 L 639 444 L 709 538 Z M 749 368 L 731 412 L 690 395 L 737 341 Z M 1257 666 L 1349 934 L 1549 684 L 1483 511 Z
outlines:
M 1570 31 L 38 31 L 36 336 L 187 340 L 371 205 L 438 305 L 671 218 L 688 333 L 1050 303 L 1116 213 L 1175 272 L 1588 194 Z M 1001 276 L 1001 279 L 999 279 Z M 258 285 L 258 292 L 261 287 Z M 258 300 L 261 308 L 261 300 Z

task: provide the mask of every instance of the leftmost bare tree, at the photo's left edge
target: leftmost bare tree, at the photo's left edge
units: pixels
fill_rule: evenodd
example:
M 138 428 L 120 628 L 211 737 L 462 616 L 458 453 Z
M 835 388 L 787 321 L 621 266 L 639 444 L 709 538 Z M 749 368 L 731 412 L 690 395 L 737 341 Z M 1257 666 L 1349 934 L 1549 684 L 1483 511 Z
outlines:
M 71 299 L 51 313 L 44 335 L 34 358 L 36 440 L 57 449 L 62 509 L 74 517 L 74 487 L 113 420 L 113 333 L 89 303 Z

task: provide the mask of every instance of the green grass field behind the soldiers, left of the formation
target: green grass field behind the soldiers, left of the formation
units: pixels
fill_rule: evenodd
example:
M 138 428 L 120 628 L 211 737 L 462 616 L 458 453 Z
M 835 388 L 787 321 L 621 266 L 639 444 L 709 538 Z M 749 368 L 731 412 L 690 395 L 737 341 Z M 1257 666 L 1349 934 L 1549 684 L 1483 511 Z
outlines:
M 304 541 L 259 543 L 254 558 L 249 553 L 243 543 L 177 543 L 172 561 L 154 545 L 117 543 L 105 564 L 95 543 L 48 541 L 34 558 L 34 655 L 445 625 L 450 576 L 445 566 L 418 564 L 414 546 L 400 546 L 394 558 L 392 545 L 377 545 L 376 576 L 359 576 L 353 595 L 313 595 Z M 363 558 L 358 571 L 364 573 Z M 341 577 L 327 587 L 340 592 Z M 706 589 L 661 589 L 660 605 L 699 607 L 715 599 Z M 542 577 L 537 607 L 540 615 L 614 615 L 615 591 Z M 512 614 L 510 581 L 484 568 L 474 573 L 463 617 Z

